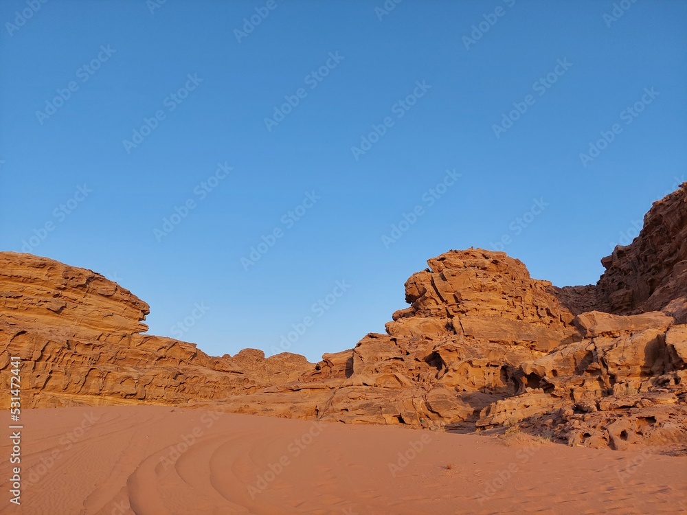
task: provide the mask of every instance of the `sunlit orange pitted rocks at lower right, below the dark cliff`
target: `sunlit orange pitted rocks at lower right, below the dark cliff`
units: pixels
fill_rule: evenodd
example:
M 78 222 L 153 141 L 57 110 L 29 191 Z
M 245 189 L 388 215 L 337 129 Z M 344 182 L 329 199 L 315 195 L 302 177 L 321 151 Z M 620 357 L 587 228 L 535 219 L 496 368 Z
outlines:
M 686 325 L 633 330 L 629 323 L 618 336 L 522 363 L 521 393 L 486 407 L 476 426 L 524 421 L 571 445 L 616 449 L 679 444 L 687 434 L 686 333 Z

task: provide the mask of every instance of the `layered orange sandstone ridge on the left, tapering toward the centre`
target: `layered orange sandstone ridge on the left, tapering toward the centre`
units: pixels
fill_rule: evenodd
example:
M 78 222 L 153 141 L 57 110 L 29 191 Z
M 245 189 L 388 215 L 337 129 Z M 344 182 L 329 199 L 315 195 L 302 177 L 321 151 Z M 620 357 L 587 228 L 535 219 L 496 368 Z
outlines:
M 21 356 L 24 407 L 221 400 L 315 368 L 295 354 L 212 358 L 191 343 L 140 334 L 148 312 L 100 274 L 0 253 L 0 369 Z

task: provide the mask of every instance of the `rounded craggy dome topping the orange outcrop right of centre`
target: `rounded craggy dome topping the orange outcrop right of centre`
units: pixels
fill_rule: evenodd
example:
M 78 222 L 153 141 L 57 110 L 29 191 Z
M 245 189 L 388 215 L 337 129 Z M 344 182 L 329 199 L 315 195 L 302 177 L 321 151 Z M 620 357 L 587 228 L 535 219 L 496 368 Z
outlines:
M 451 251 L 427 263 L 405 284 L 411 306 L 387 323 L 391 336 L 457 335 L 550 350 L 575 332 L 551 283 L 532 279 L 505 253 Z

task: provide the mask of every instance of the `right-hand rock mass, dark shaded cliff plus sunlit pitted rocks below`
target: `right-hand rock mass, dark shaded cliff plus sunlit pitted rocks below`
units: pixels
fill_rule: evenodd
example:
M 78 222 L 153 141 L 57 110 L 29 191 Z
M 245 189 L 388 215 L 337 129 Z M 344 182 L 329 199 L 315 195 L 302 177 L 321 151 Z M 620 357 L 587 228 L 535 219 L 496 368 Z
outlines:
M 483 409 L 476 426 L 520 424 L 570 445 L 687 450 L 686 234 L 687 183 L 602 260 L 596 286 L 559 290 L 581 341 L 521 363 L 519 393 Z

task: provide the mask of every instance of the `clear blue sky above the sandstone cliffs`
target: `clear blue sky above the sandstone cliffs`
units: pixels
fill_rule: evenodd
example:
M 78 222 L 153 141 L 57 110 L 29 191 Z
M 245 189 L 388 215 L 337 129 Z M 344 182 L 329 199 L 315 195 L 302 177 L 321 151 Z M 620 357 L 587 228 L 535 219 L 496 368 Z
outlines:
M 594 283 L 685 180 L 685 1 L 3 0 L 0 23 L 0 249 L 103 273 L 213 355 L 350 348 L 449 249 Z

